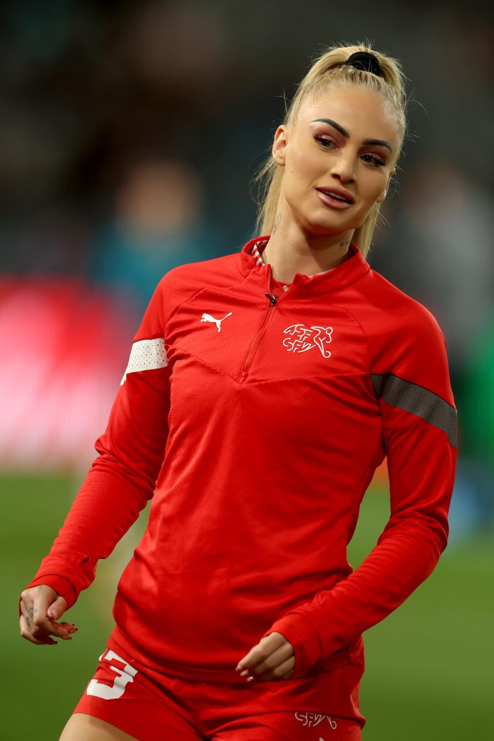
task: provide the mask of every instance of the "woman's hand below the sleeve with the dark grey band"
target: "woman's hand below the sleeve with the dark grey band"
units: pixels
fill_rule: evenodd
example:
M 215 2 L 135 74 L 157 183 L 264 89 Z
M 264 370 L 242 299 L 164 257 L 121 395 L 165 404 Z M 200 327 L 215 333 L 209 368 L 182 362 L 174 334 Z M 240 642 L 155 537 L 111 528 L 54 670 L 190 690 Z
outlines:
M 295 667 L 293 647 L 287 639 L 273 631 L 250 649 L 249 653 L 240 659 L 236 667 L 247 682 L 258 679 L 261 682 L 271 682 L 273 679 L 288 679 L 292 676 Z

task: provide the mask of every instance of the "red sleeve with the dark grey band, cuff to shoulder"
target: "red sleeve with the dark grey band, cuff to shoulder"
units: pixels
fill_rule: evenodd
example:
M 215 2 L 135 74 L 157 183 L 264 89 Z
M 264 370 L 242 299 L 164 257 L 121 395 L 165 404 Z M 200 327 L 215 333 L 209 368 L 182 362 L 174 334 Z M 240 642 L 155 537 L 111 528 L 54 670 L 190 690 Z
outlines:
M 401 337 L 399 347 L 394 342 L 380 348 L 371 372 L 390 478 L 390 519 L 353 574 L 287 612 L 264 634 L 278 631 L 290 641 L 296 676 L 349 648 L 401 605 L 431 574 L 447 544 L 457 413 L 446 342 L 428 310 L 413 328 L 402 327 Z M 391 370 L 384 372 L 384 364 Z

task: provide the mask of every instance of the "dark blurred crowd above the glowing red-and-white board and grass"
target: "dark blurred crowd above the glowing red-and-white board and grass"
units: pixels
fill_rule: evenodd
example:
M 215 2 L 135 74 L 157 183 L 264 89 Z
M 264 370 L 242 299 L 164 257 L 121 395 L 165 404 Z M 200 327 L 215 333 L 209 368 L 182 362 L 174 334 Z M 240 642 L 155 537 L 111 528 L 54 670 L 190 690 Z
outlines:
M 410 133 L 367 259 L 441 325 L 460 427 L 457 501 L 475 522 L 492 522 L 486 8 L 1 3 L 1 273 L 84 276 L 140 316 L 167 270 L 250 239 L 250 181 L 270 152 L 284 96 L 324 47 L 370 40 L 410 80 Z

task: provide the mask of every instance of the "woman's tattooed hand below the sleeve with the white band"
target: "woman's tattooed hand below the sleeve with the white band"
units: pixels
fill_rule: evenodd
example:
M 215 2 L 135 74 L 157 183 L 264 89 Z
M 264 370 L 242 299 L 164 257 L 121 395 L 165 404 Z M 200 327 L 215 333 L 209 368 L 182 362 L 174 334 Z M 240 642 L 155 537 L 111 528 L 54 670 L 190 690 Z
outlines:
M 66 610 L 67 602 L 52 587 L 40 584 L 21 592 L 21 636 L 39 645 L 56 644 L 50 636 L 71 641 L 70 633 L 79 630 L 73 623 L 56 622 Z

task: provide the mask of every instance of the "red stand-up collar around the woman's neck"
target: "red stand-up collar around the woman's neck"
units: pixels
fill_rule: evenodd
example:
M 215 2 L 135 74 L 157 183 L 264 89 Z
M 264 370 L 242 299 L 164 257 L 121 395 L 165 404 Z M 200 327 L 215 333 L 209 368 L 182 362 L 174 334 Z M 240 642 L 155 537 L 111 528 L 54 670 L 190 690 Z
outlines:
M 259 278 L 265 278 L 267 266 L 262 267 L 258 264 L 252 250 L 256 242 L 267 242 L 268 239 L 270 239 L 270 235 L 254 237 L 241 248 L 238 253 L 238 270 L 245 277 L 256 270 Z M 350 283 L 356 282 L 369 272 L 370 265 L 354 242 L 350 242 L 348 253 L 350 253 L 348 259 L 336 265 L 336 268 L 330 268 L 324 273 L 316 273 L 311 277 L 303 273 L 295 273 L 290 287 L 297 289 L 304 287 L 310 293 L 330 293 L 330 291 L 339 290 L 350 285 Z

